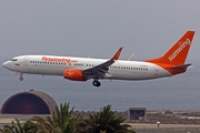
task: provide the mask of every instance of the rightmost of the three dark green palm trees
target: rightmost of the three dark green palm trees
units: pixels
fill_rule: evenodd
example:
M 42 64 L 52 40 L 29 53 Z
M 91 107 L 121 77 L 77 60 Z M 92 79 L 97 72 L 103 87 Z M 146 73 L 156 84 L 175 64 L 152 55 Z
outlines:
M 111 105 L 100 109 L 100 112 L 83 120 L 78 125 L 78 133 L 134 133 L 130 125 L 122 124 L 124 119 L 116 116 Z

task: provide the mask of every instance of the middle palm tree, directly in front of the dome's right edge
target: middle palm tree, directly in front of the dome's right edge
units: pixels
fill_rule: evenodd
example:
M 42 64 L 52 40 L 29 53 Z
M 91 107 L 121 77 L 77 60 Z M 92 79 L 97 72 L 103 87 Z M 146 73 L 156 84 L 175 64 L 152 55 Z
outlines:
M 60 104 L 60 109 L 56 108 L 52 116 L 34 116 L 33 120 L 38 126 L 37 133 L 76 133 L 76 124 L 81 120 L 81 116 L 72 117 L 73 109 L 69 111 L 69 103 L 64 103 Z

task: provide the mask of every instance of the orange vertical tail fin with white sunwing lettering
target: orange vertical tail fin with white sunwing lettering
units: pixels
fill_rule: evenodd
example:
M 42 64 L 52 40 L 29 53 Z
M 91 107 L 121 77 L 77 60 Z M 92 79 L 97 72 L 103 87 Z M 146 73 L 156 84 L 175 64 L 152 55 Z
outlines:
M 192 43 L 193 35 L 194 31 L 187 31 L 182 35 L 182 38 L 180 38 L 179 41 L 174 43 L 173 47 L 171 47 L 171 49 L 164 55 L 158 59 L 146 60 L 146 62 L 173 65 L 184 64 L 190 45 Z

